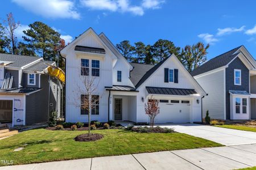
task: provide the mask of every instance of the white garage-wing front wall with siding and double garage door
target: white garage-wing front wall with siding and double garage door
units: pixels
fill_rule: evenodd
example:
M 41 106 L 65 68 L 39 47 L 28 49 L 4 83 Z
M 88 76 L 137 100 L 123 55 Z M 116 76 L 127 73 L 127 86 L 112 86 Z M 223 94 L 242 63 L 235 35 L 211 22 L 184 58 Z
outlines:
M 179 70 L 179 83 L 164 83 L 164 68 Z M 137 122 L 149 122 L 148 116 L 145 116 L 144 104 L 147 102 L 148 95 L 146 87 L 168 87 L 168 88 L 188 88 L 195 89 L 188 79 L 186 70 L 181 67 L 175 58 L 170 57 L 158 70 L 153 73 L 139 88 L 137 95 Z M 156 122 L 196 122 L 201 121 L 201 103 L 197 104 L 196 100 L 201 102 L 201 96 L 171 96 L 171 95 L 152 95 L 154 99 L 169 100 L 169 104 L 159 103 L 160 114 L 156 116 Z M 142 97 L 144 102 L 142 102 Z M 170 100 L 189 100 L 189 104 L 170 104 Z M 173 107 L 176 107 L 176 110 Z M 183 115 L 184 114 L 184 115 Z

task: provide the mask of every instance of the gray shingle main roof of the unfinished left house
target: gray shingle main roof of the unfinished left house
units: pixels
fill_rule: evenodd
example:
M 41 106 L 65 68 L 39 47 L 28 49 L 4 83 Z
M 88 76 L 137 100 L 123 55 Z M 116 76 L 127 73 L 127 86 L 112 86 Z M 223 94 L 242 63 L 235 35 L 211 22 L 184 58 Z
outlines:
M 27 64 L 34 62 L 41 57 L 30 57 L 30 56 L 18 56 L 13 54 L 2 54 L 0 53 L 0 61 L 11 61 L 8 66 L 12 67 L 22 67 L 26 66 Z

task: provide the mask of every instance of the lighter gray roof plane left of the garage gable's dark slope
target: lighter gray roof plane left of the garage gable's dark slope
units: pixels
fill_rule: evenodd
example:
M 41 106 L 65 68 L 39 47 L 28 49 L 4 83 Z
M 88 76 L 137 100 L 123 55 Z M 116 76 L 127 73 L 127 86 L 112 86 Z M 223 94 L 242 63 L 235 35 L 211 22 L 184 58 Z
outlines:
M 142 63 L 131 63 L 133 66 L 133 71 L 131 71 L 131 82 L 136 86 L 136 84 L 141 80 L 144 74 L 147 73 L 148 70 L 152 69 L 155 65 L 145 65 Z

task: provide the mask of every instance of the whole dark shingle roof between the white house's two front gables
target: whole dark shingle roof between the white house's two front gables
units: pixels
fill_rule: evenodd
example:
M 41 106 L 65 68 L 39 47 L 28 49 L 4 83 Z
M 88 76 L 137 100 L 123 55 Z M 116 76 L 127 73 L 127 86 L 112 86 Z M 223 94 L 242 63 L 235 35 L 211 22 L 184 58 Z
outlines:
M 163 59 L 163 61 L 159 62 L 157 65 L 133 65 L 134 63 L 131 63 L 131 65 L 135 66 L 135 67 L 141 67 L 141 68 L 137 68 L 131 71 L 131 82 L 133 82 L 135 88 L 138 88 L 139 86 L 141 86 L 141 84 L 146 81 L 146 79 L 155 72 L 155 70 L 157 70 L 169 57 L 166 57 Z M 150 68 L 151 66 L 151 68 Z M 145 70 L 144 70 L 145 69 Z M 133 78 L 133 76 L 135 76 L 135 78 Z M 140 78 L 141 77 L 141 78 Z

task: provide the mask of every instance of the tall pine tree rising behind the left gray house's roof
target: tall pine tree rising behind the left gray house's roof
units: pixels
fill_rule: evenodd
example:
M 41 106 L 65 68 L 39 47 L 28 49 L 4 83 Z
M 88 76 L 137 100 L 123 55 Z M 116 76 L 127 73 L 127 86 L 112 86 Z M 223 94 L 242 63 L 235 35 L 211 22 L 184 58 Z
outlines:
M 35 49 L 35 53 L 44 59 L 56 61 L 56 47 L 59 46 L 60 33 L 42 22 L 34 22 L 28 26 L 30 29 L 23 31 L 26 35 L 23 39 L 27 45 Z

